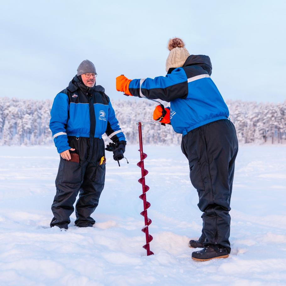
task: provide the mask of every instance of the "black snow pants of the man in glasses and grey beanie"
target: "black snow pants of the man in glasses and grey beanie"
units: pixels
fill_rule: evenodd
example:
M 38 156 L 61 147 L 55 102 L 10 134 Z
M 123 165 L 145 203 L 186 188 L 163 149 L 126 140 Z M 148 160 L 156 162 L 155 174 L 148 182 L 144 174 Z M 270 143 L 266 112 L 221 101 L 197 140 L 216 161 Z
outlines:
M 99 197 L 104 187 L 105 164 L 99 165 L 105 156 L 104 141 L 99 138 L 68 137 L 69 146 L 75 148 L 71 153 L 77 153 L 80 163 L 70 162 L 60 157 L 58 175 L 56 178 L 56 195 L 52 203 L 53 219 L 50 226 L 68 228 L 70 215 L 75 205 L 75 225 L 79 227 L 92 226 L 95 220 L 91 218 L 98 205 Z M 91 143 L 91 144 L 90 144 Z

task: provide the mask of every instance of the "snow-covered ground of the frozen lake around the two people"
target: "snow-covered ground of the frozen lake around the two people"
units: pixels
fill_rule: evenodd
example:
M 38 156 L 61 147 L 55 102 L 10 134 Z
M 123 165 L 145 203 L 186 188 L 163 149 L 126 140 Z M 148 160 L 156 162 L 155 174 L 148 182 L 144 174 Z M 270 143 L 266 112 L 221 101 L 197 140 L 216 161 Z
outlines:
M 59 156 L 50 147 L 0 147 L 0 285 L 286 285 L 286 147 L 241 146 L 228 259 L 196 262 L 198 195 L 179 146 L 146 146 L 154 256 L 146 256 L 137 146 L 119 168 L 107 154 L 93 228 L 50 228 Z

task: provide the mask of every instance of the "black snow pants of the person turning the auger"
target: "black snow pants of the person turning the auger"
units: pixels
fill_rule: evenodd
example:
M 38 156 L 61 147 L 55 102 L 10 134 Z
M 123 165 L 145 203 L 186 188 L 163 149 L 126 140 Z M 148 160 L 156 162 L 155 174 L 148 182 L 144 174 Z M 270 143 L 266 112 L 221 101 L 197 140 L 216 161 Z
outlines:
M 191 130 L 183 136 L 181 148 L 189 160 L 191 183 L 203 212 L 199 241 L 230 252 L 230 198 L 238 152 L 234 124 L 223 119 Z

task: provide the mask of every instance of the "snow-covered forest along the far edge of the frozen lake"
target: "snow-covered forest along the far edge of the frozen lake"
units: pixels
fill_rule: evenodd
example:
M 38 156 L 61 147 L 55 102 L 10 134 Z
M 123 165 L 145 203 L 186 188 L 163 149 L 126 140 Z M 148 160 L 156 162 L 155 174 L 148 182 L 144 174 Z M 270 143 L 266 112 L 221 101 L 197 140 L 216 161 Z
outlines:
M 112 101 L 128 143 L 138 142 L 137 121 L 151 121 L 155 105 L 148 101 Z M 286 142 L 286 101 L 283 103 L 227 102 L 240 143 Z M 168 106 L 167 104 L 165 106 Z M 49 129 L 50 100 L 0 98 L 0 145 L 52 144 Z M 180 144 L 181 135 L 172 127 L 146 124 L 145 144 Z

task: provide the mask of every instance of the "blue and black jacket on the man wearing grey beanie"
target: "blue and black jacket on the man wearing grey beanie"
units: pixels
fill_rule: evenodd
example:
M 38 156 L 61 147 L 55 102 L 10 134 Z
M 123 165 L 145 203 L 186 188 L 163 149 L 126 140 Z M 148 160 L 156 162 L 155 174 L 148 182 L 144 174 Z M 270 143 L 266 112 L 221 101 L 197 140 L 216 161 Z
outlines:
M 94 115 L 90 113 L 91 102 Z M 95 138 L 102 138 L 106 133 L 114 143 L 126 142 L 104 88 L 101 85 L 89 88 L 76 75 L 69 86 L 57 94 L 52 105 L 50 129 L 58 153 L 70 149 L 68 136 L 90 137 L 91 128 Z

